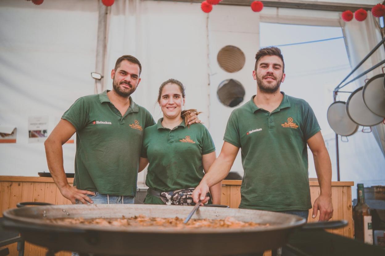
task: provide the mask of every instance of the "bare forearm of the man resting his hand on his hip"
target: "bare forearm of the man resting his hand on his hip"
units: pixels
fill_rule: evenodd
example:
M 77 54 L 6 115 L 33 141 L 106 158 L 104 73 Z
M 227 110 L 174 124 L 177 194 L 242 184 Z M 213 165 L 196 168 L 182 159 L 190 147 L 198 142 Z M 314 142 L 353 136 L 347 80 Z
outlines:
M 47 139 L 44 143 L 48 169 L 59 190 L 69 186 L 63 166 L 63 148 L 60 142 Z

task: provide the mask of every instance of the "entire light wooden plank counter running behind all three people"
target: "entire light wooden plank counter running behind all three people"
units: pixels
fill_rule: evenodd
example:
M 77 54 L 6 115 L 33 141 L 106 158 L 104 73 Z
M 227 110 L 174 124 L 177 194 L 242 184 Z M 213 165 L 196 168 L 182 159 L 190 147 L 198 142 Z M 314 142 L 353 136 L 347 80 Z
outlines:
M 74 178 L 68 178 L 72 184 Z M 311 204 L 320 194 L 318 182 L 310 179 Z M 226 180 L 222 182 L 221 204 L 226 204 L 232 208 L 237 208 L 241 201 L 241 181 Z M 353 219 L 352 219 L 352 192 L 353 182 L 331 182 L 331 192 L 334 207 L 333 220 L 345 219 L 348 226 L 343 229 L 328 230 L 335 234 L 340 234 L 353 238 Z M 18 202 L 49 202 L 51 204 L 70 204 L 56 187 L 54 180 L 49 177 L 24 177 L 24 176 L 0 176 L 0 214 L 3 211 L 16 207 Z M 312 210 L 309 211 L 309 221 L 318 221 L 311 218 Z M 8 246 L 10 256 L 17 255 L 16 244 Z M 25 243 L 25 256 L 45 256 L 45 248 Z M 70 256 L 70 252 L 59 252 L 55 255 Z M 266 254 L 270 255 L 270 254 Z

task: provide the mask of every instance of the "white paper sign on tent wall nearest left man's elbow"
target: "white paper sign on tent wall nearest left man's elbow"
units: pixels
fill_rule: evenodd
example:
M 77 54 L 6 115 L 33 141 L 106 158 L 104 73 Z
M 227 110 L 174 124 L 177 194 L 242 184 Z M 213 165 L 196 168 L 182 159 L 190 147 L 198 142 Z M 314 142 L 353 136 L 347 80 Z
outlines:
M 47 139 L 48 116 L 28 117 L 28 143 L 44 142 Z

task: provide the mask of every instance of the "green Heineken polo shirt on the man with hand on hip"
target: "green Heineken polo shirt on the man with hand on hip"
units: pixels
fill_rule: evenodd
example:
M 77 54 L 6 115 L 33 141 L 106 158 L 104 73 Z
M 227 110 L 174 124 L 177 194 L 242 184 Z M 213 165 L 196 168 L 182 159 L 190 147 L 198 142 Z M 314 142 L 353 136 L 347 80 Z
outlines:
M 151 114 L 130 97 L 122 116 L 105 90 L 76 100 L 62 119 L 76 129 L 74 186 L 135 196 L 144 128 L 155 123 Z

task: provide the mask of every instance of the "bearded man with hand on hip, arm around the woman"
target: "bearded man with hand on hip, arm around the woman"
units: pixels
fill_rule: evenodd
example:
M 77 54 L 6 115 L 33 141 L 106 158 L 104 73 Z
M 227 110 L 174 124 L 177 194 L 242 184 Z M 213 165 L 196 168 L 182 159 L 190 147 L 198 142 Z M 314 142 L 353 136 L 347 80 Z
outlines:
M 143 131 L 155 124 L 151 114 L 130 96 L 141 81 L 141 71 L 135 57 L 117 59 L 111 71 L 112 90 L 76 100 L 45 141 L 50 173 L 72 204 L 134 203 Z M 189 121 L 199 122 L 196 116 Z M 75 179 L 70 186 L 62 145 L 75 132 Z

